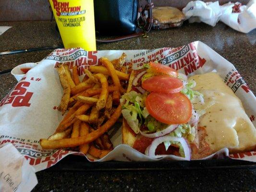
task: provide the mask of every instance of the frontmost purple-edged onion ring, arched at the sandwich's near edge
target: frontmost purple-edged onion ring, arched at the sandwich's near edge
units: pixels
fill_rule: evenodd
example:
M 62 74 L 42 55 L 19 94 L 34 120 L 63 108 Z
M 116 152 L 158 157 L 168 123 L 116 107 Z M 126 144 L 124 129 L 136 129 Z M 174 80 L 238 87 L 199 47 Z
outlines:
M 172 136 L 163 136 L 156 138 L 146 149 L 145 154 L 147 156 L 153 157 L 153 158 L 161 158 L 164 156 L 174 156 L 174 155 L 155 155 L 156 149 L 159 144 L 163 143 L 164 141 L 176 141 L 180 142 L 183 146 L 185 157 L 176 156 L 181 160 L 187 160 L 189 161 L 191 159 L 191 148 L 190 145 L 187 143 L 187 141 L 181 137 L 172 137 Z

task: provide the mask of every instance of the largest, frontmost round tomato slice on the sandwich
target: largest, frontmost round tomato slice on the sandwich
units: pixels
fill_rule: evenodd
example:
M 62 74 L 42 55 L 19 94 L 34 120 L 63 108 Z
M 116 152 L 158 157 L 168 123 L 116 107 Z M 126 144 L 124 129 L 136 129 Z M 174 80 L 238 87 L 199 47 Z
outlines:
M 146 97 L 146 109 L 156 120 L 166 124 L 187 123 L 192 116 L 192 104 L 182 93 L 152 92 Z

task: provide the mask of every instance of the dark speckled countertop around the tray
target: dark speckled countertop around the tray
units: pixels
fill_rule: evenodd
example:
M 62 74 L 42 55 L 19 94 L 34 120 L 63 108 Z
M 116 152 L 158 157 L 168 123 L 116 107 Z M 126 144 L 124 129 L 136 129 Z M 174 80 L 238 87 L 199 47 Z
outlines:
M 62 46 L 55 23 L 0 22 L 0 26 L 12 26 L 0 36 L 0 52 Z M 234 64 L 238 72 L 256 92 L 256 30 L 243 34 L 219 23 L 184 23 L 179 28 L 152 31 L 149 38 L 133 38 L 115 43 L 98 44 L 104 49 L 151 49 L 178 47 L 200 40 Z M 51 50 L 34 51 L 0 56 L 0 71 L 25 62 L 37 62 Z M 16 84 L 10 73 L 0 75 L 0 99 Z M 256 169 L 214 169 L 182 171 L 140 172 L 65 172 L 41 171 L 37 173 L 38 185 L 34 192 L 57 191 L 249 191 L 256 190 Z

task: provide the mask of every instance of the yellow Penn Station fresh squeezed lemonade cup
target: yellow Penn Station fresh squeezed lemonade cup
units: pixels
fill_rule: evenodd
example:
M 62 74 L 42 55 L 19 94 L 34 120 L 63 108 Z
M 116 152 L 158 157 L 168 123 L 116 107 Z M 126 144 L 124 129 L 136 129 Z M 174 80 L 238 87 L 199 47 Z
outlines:
M 49 0 L 65 48 L 96 50 L 93 0 Z

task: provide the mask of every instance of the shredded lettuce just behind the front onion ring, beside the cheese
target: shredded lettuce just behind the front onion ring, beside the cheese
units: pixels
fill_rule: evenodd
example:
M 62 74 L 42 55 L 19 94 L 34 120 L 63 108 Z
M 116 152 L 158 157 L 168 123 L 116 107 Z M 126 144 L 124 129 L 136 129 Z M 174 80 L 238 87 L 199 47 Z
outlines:
M 190 124 L 180 124 L 173 132 L 170 133 L 173 137 L 185 137 L 189 142 L 195 139 L 195 126 Z

